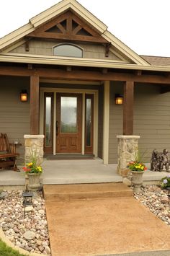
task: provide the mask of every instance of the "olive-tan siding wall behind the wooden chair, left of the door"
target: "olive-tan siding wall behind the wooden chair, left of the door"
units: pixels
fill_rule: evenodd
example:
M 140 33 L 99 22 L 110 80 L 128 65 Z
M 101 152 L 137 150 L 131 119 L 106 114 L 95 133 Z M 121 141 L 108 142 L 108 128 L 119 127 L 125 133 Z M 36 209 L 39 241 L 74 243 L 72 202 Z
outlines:
M 0 76 L 0 133 L 7 133 L 11 143 L 19 140 L 22 146 L 17 147 L 17 152 L 23 157 L 24 134 L 30 133 L 30 100 L 20 102 L 22 89 L 30 91 L 29 79 Z

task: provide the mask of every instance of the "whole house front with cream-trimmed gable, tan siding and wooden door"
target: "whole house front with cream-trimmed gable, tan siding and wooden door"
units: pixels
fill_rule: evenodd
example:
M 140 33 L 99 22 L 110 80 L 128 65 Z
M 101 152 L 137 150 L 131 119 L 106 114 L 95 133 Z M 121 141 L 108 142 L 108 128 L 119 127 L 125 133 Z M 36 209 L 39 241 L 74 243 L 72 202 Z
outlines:
M 170 149 L 169 84 L 170 58 L 138 56 L 63 0 L 0 39 L 0 132 L 19 140 L 20 154 L 24 134 L 44 135 L 46 155 L 94 154 L 104 164 L 117 163 L 120 135 L 149 162 L 153 149 Z

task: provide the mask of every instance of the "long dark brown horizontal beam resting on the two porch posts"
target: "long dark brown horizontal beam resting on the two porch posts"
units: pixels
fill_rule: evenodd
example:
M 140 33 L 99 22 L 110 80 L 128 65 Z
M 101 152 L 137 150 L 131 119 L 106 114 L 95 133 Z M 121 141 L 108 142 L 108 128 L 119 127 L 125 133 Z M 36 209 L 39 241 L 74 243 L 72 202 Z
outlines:
M 0 66 L 0 75 L 4 76 L 32 76 L 37 74 L 41 78 L 48 79 L 79 79 L 79 80 L 91 80 L 91 81 L 135 81 L 143 83 L 153 84 L 170 84 L 170 77 L 164 75 L 148 75 L 143 74 L 136 76 L 135 74 L 118 73 L 115 71 L 102 72 L 98 71 L 81 71 L 76 70 L 76 67 L 71 72 L 66 71 L 66 67 L 63 69 L 47 69 L 47 68 L 35 68 L 28 69 L 27 66 Z

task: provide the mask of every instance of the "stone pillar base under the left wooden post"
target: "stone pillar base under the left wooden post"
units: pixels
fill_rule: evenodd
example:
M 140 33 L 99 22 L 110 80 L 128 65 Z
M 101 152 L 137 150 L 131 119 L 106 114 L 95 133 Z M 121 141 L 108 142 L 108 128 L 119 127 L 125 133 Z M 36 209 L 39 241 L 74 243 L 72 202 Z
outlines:
M 43 162 L 44 135 L 24 135 L 24 161 L 31 162 L 32 153 L 37 156 L 37 165 Z

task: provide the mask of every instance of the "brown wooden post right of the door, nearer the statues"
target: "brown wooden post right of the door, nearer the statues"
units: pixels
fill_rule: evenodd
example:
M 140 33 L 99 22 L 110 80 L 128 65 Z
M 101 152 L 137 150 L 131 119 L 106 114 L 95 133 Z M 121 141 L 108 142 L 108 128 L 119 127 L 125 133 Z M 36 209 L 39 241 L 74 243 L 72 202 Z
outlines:
M 123 99 L 123 135 L 133 135 L 134 81 L 125 81 Z

